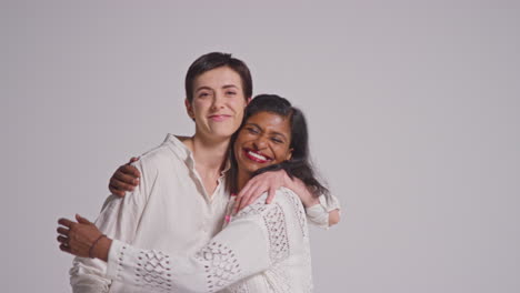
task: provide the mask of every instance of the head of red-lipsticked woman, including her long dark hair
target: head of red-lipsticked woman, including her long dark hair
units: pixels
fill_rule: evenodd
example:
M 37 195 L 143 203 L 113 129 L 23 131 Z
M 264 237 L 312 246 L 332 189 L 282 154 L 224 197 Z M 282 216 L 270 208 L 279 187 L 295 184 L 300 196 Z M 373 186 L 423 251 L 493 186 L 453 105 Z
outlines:
M 309 159 L 309 132 L 303 113 L 277 94 L 259 94 L 244 111 L 240 130 L 231 138 L 231 168 L 227 184 L 239 193 L 261 173 L 283 170 L 313 194 L 328 194 Z

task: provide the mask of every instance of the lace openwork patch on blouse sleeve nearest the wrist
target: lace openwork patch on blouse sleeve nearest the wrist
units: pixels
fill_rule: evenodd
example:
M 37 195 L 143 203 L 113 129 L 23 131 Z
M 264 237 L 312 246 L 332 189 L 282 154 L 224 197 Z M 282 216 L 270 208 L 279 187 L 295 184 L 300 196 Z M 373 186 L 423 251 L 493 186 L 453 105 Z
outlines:
M 136 282 L 161 291 L 171 290 L 170 256 L 160 251 L 140 251 Z

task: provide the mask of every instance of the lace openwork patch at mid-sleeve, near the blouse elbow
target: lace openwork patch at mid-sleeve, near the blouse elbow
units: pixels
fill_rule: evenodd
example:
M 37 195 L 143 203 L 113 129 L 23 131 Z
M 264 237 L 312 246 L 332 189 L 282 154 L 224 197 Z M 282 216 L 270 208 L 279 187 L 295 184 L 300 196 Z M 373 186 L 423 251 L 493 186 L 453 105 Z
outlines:
M 234 252 L 217 242 L 211 242 L 203 247 L 196 257 L 204 264 L 209 292 L 216 292 L 229 285 L 241 272 Z

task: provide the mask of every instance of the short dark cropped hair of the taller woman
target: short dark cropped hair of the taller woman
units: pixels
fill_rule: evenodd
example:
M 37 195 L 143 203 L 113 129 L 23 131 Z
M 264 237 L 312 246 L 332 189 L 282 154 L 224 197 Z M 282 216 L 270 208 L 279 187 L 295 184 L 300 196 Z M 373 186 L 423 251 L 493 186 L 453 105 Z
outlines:
M 248 65 L 242 60 L 231 57 L 229 53 L 211 52 L 199 57 L 191 63 L 186 73 L 186 99 L 193 101 L 193 82 L 200 74 L 220 67 L 229 67 L 240 75 L 242 80 L 243 95 L 247 99 L 252 95 L 252 79 Z

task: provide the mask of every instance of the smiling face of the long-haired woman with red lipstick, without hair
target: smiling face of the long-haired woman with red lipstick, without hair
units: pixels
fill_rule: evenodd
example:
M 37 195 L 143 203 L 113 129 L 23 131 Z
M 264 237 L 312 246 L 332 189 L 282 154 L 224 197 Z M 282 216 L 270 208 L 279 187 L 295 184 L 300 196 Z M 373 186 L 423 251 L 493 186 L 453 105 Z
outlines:
M 252 174 L 291 159 L 289 118 L 272 112 L 251 115 L 239 130 L 233 151 L 239 172 Z

